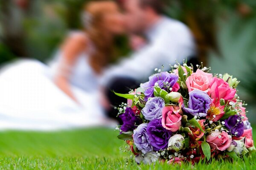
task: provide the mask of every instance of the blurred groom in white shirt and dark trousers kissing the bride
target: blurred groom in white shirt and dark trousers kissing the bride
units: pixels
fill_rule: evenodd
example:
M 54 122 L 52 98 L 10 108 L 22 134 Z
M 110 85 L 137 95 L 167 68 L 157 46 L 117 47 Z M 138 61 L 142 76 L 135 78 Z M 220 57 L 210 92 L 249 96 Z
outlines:
M 126 28 L 131 34 L 146 37 L 148 43 L 105 72 L 102 86 L 112 106 L 118 106 L 126 99 L 113 94 L 128 93 L 137 88 L 139 82 L 147 81 L 155 68 L 169 71 L 169 64 L 183 62 L 197 64 L 192 34 L 183 23 L 165 17 L 163 0 L 122 0 Z M 164 67 L 162 67 L 164 65 Z M 108 116 L 115 118 L 118 111 L 108 108 Z

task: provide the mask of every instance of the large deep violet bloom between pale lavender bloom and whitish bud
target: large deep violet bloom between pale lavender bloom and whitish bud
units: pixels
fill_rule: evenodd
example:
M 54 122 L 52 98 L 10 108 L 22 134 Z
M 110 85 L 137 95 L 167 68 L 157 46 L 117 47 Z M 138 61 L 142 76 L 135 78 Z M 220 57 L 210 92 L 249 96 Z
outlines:
M 167 148 L 168 140 L 172 136 L 172 132 L 163 128 L 161 119 L 150 121 L 146 132 L 154 151 Z

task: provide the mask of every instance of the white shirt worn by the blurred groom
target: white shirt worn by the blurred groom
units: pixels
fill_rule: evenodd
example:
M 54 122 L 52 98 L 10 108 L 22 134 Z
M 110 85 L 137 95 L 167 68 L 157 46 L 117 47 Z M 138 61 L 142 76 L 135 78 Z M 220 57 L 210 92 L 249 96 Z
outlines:
M 146 80 L 155 68 L 169 71 L 169 64 L 175 64 L 175 59 L 195 56 L 193 36 L 186 25 L 180 21 L 162 17 L 145 34 L 149 42 L 130 57 L 122 59 L 117 65 L 109 67 L 102 79 L 106 85 L 114 77 L 130 77 L 136 80 Z

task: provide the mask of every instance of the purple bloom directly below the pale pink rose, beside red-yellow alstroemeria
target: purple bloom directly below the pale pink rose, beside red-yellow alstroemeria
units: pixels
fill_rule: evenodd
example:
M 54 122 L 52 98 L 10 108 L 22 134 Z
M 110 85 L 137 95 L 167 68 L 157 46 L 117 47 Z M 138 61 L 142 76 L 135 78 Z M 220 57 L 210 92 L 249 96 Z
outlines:
M 204 91 L 195 89 L 189 92 L 188 108 L 183 107 L 183 111 L 193 116 L 207 116 L 212 99 Z

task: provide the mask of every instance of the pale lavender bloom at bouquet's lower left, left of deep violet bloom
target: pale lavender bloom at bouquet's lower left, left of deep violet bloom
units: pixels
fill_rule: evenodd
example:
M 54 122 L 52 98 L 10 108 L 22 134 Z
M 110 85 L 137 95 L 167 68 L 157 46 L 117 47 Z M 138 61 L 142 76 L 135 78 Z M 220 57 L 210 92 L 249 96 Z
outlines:
M 134 144 L 142 153 L 147 153 L 152 151 L 152 147 L 150 145 L 150 141 L 148 139 L 148 134 L 146 132 L 148 124 L 143 123 L 140 124 L 137 129 L 134 130 Z

